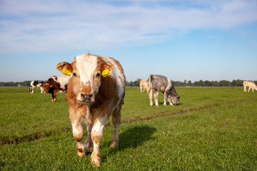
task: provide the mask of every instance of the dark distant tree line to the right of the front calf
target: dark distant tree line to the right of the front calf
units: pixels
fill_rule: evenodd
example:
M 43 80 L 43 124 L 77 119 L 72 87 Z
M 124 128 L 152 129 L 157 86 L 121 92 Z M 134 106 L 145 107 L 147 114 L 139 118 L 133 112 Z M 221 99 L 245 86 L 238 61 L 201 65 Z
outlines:
M 136 81 L 126 81 L 126 86 L 139 86 L 139 81 L 141 81 L 140 78 L 138 78 Z M 257 85 L 257 81 L 253 81 Z M 219 87 L 219 86 L 243 86 L 242 80 L 233 80 L 233 81 L 172 81 L 174 86 L 210 86 L 210 87 Z

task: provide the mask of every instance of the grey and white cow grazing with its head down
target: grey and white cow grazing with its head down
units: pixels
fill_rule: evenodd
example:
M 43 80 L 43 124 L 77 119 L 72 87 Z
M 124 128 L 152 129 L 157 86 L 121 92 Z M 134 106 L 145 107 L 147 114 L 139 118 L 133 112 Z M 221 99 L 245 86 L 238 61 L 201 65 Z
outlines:
M 176 90 L 173 87 L 173 84 L 171 83 L 170 78 L 166 78 L 165 76 L 160 76 L 160 75 L 149 76 L 147 93 L 149 95 L 151 106 L 153 105 L 153 101 L 152 101 L 153 89 L 155 90 L 154 100 L 155 100 L 156 106 L 158 106 L 158 93 L 160 91 L 161 93 L 164 94 L 163 105 L 166 105 L 167 99 L 170 105 L 178 105 L 180 96 L 176 93 Z

